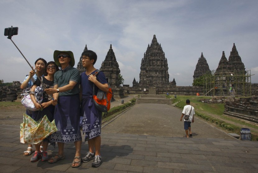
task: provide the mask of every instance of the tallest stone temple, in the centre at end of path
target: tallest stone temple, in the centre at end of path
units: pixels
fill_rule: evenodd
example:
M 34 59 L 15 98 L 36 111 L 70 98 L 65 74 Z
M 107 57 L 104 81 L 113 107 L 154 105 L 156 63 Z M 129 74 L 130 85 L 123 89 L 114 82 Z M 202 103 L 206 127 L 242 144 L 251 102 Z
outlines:
M 169 84 L 168 61 L 154 35 L 141 59 L 140 81 L 137 85 L 139 87 L 161 87 Z

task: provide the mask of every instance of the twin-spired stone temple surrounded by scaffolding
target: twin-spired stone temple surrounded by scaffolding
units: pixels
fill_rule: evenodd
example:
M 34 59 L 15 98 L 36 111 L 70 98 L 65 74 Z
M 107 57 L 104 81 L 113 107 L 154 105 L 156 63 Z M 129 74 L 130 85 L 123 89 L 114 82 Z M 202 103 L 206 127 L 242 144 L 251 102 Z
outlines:
M 207 94 L 212 91 L 212 95 L 217 96 L 251 95 L 251 71 L 245 70 L 235 43 L 228 59 L 225 52 L 222 52 L 218 68 L 216 71 L 212 70 L 211 76 L 206 77 L 205 81 Z

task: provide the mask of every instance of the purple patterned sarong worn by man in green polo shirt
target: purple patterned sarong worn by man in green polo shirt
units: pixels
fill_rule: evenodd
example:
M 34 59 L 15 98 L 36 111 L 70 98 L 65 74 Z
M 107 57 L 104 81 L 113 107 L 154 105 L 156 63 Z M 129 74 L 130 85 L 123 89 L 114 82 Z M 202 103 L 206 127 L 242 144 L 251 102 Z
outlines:
M 60 96 L 55 106 L 54 119 L 58 131 L 51 135 L 52 142 L 69 143 L 81 140 L 79 95 Z

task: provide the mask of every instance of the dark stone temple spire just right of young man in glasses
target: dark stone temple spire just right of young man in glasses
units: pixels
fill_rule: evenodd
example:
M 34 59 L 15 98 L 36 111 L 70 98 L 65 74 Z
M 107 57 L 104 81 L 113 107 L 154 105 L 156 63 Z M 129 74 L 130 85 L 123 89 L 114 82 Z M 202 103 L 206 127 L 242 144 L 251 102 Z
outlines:
M 120 69 L 117 63 L 115 53 L 112 49 L 112 44 L 110 44 L 108 53 L 106 55 L 105 60 L 101 64 L 100 70 L 104 72 L 106 78 L 108 79 L 108 83 L 111 87 L 119 86 L 118 75 L 120 73 Z

